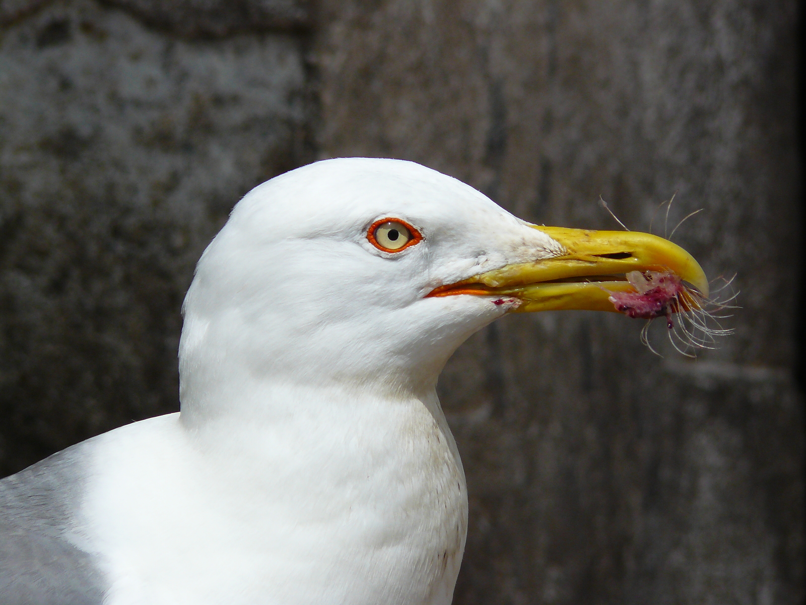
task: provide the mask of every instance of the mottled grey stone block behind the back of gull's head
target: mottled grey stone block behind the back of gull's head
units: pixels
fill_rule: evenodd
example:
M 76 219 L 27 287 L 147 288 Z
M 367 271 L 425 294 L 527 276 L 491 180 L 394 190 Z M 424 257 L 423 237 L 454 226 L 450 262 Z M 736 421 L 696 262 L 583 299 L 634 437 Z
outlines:
M 199 254 L 304 163 L 288 34 L 174 39 L 51 2 L 0 37 L 0 468 L 174 411 Z

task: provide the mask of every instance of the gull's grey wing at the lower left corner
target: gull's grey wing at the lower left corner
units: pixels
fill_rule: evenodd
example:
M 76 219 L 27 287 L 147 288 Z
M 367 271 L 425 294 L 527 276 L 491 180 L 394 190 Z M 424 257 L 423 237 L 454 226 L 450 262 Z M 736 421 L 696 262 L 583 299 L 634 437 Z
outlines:
M 94 557 L 64 539 L 84 489 L 83 446 L 0 481 L 2 605 L 102 603 L 106 584 Z

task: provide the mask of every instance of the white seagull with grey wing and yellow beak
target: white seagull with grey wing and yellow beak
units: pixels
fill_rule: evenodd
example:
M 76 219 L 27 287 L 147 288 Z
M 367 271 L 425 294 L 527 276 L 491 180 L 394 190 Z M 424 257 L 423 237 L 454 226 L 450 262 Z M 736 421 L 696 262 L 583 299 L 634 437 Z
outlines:
M 510 312 L 614 311 L 683 248 L 526 223 L 409 161 L 251 190 L 183 306 L 181 411 L 0 482 L 5 605 L 447 605 L 467 486 L 435 386 Z M 604 277 L 603 277 L 604 276 Z

